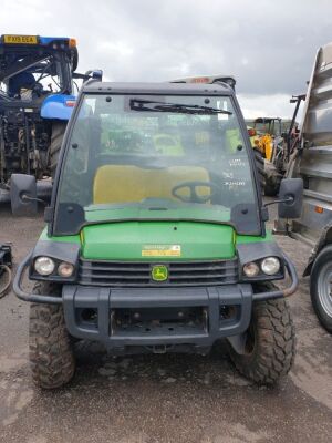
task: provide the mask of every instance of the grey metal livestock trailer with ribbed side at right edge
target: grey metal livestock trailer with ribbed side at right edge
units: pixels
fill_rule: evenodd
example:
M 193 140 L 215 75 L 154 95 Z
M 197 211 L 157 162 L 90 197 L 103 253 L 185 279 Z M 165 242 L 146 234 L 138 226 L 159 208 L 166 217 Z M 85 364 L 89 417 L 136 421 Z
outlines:
M 312 247 L 304 276 L 318 318 L 332 332 L 332 43 L 317 53 L 287 177 L 303 178 L 302 215 L 279 219 L 277 229 Z

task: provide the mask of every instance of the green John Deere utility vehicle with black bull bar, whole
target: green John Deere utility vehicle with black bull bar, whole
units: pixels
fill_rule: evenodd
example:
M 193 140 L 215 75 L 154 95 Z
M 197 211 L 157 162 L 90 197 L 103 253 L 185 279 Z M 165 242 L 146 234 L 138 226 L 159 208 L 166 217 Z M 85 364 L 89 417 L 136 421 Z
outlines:
M 298 216 L 300 194 L 299 181 L 283 183 L 281 215 Z M 14 212 L 35 208 L 34 195 L 31 177 L 12 177 Z M 51 336 L 62 328 L 113 353 L 205 354 L 226 338 L 251 379 L 273 383 L 289 371 L 294 341 L 283 297 L 297 275 L 266 231 L 253 153 L 226 83 L 89 81 L 45 219 L 14 280 L 18 296 L 37 302 L 31 360 L 39 385 L 64 384 L 74 371 L 69 339 L 52 348 L 61 373 L 53 357 L 43 363 L 33 320 L 40 309 L 50 312 L 50 331 L 51 317 L 61 316 Z M 25 267 L 38 281 L 32 293 L 20 284 Z M 287 272 L 290 287 L 280 290 L 272 281 Z

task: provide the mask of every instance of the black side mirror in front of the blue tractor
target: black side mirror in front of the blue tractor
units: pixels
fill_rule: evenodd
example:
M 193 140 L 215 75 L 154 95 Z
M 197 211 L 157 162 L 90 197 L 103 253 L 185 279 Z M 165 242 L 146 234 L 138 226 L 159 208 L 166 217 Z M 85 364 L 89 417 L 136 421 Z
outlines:
M 11 175 L 10 202 L 12 214 L 15 216 L 37 214 L 37 184 L 32 175 Z

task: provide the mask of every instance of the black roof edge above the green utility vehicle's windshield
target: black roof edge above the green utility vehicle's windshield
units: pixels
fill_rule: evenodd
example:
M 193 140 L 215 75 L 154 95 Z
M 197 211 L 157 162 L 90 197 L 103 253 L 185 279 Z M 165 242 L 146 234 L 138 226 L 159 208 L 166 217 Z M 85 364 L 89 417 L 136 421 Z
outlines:
M 89 81 L 83 92 L 110 94 L 234 95 L 226 83 L 115 83 Z

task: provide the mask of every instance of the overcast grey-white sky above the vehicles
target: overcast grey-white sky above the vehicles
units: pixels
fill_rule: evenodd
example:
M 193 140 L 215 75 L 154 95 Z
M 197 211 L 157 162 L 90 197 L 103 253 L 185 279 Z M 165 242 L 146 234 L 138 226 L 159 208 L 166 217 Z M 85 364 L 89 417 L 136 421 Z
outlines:
M 234 74 L 245 116 L 289 117 L 332 0 L 0 0 L 0 33 L 74 37 L 79 71 L 111 81 Z

